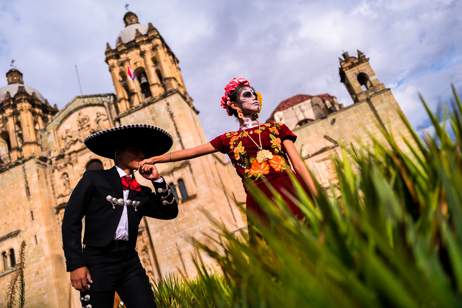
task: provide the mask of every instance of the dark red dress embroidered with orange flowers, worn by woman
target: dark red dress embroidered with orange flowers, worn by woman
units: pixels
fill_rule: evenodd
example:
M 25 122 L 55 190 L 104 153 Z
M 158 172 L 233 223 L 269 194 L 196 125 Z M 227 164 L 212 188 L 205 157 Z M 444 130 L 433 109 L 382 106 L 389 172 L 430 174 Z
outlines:
M 259 128 L 253 127 L 236 132 L 227 132 L 210 141 L 210 144 L 219 149 L 220 152 L 229 156 L 236 172 L 241 177 L 244 189 L 248 192 L 247 182 L 251 180 L 260 187 L 267 198 L 271 198 L 271 191 L 263 185 L 263 178 L 280 193 L 287 204 L 291 207 L 294 215 L 302 217 L 300 209 L 288 199 L 281 191 L 293 191 L 292 181 L 288 173 L 293 173 L 282 141 L 290 139 L 293 142 L 297 136 L 282 123 L 261 124 L 261 145 L 266 152 L 265 160 L 257 159 L 258 147 L 255 143 L 259 142 Z M 251 140 L 255 141 L 255 143 Z M 307 192 L 300 178 L 295 175 Z M 265 219 L 263 211 L 259 208 L 255 199 L 247 193 L 247 210 L 252 210 L 260 219 Z

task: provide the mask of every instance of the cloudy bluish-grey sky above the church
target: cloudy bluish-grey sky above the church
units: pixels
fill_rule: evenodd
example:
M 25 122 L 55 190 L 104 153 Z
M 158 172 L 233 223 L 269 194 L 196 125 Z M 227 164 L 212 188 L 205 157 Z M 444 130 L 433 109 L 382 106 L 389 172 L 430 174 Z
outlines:
M 104 62 L 106 43 L 124 28 L 127 0 L 0 2 L 0 74 L 10 61 L 25 84 L 51 105 L 80 94 L 114 92 Z M 130 1 L 142 24 L 151 22 L 180 61 L 208 140 L 236 130 L 220 108 L 224 86 L 246 78 L 263 95 L 262 118 L 296 94 L 352 100 L 338 75 L 342 51 L 370 58 L 414 128 L 428 119 L 417 92 L 433 109 L 462 94 L 462 1 Z M 459 12 L 459 13 L 457 13 Z M 3 73 L 2 73 L 3 72 Z M 6 78 L 0 86 L 6 85 Z

